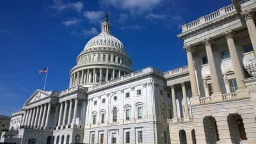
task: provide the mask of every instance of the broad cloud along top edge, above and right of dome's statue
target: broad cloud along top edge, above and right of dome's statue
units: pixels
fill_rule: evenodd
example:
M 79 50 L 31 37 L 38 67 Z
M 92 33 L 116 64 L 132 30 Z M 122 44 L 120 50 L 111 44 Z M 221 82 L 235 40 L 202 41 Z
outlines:
M 140 13 L 152 10 L 154 6 L 159 4 L 162 0 L 100 0 L 100 4 L 115 6 L 129 10 L 132 13 Z

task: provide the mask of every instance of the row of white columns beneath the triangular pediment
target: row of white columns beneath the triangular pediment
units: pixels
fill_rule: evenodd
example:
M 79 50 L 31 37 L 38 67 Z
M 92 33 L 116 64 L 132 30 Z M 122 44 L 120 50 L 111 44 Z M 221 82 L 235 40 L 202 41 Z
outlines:
M 42 104 L 35 108 L 25 110 L 22 117 L 22 126 L 27 128 L 44 128 L 49 127 L 49 116 L 51 112 L 51 103 Z

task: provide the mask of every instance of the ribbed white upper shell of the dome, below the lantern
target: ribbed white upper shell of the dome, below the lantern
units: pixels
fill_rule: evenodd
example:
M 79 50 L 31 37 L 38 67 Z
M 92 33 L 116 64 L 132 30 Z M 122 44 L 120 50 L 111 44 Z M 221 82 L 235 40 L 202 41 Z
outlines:
M 91 40 L 87 42 L 84 49 L 90 49 L 91 47 L 115 47 L 124 51 L 124 45 L 118 38 L 112 36 L 110 33 L 100 33 L 94 36 Z

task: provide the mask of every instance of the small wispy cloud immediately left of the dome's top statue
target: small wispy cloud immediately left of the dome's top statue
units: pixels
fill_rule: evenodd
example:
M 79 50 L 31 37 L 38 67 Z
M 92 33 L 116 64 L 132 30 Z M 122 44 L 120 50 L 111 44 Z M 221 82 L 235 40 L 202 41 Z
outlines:
M 86 11 L 83 13 L 86 19 L 90 20 L 91 23 L 102 22 L 104 17 L 104 12 L 100 11 Z

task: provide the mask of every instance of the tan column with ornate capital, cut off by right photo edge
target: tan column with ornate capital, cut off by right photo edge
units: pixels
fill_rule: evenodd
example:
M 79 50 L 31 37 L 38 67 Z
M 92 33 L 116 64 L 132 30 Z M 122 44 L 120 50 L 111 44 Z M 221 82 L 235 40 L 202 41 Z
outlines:
M 245 21 L 252 42 L 254 54 L 256 55 L 256 27 L 254 23 L 254 12 L 252 10 L 244 12 Z

